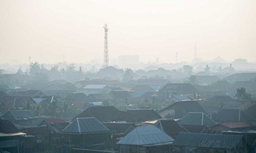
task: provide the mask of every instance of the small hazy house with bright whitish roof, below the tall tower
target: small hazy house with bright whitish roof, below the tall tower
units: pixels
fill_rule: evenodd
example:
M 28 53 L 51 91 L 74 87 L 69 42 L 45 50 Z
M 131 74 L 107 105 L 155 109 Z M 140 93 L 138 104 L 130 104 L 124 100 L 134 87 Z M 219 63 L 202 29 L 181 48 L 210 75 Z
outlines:
M 111 88 L 108 85 L 86 85 L 81 89 L 81 91 L 86 94 L 109 94 Z

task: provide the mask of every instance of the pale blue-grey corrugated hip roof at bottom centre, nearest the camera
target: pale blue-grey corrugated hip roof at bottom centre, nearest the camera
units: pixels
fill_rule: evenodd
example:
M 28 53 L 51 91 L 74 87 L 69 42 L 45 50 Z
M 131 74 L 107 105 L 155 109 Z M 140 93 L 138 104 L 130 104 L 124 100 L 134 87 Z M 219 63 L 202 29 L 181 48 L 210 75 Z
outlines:
M 154 145 L 173 142 L 173 138 L 156 128 L 156 126 L 141 126 L 133 129 L 118 145 Z

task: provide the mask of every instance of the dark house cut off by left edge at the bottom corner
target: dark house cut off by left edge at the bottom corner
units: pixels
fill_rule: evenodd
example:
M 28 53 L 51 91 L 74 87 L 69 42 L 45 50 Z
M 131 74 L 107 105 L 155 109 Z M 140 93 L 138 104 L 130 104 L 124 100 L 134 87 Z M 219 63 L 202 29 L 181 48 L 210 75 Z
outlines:
M 19 152 L 20 147 L 24 146 L 23 136 L 26 133 L 21 133 L 18 131 L 15 126 L 13 126 L 12 122 L 9 120 L 1 120 L 0 119 L 0 150 L 6 152 Z

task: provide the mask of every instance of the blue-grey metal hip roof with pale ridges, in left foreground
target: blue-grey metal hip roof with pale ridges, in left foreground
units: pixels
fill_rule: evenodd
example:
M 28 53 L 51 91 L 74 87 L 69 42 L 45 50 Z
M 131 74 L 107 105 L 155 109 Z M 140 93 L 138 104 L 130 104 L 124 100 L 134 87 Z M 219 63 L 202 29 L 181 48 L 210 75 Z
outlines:
M 71 122 L 65 129 L 63 133 L 105 133 L 109 132 L 109 129 L 102 124 L 99 120 L 94 117 L 88 118 L 77 118 Z

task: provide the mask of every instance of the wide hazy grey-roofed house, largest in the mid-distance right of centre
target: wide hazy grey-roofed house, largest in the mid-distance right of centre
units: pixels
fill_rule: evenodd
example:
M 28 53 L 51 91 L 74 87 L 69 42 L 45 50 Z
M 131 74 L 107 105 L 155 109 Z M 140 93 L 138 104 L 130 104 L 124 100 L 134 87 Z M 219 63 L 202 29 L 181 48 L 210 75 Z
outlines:
M 173 95 L 198 95 L 199 93 L 200 92 L 191 84 L 166 84 L 159 90 L 158 95 L 162 98 L 169 99 Z

